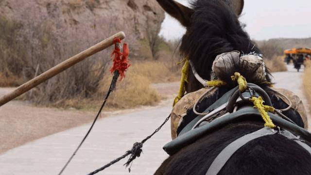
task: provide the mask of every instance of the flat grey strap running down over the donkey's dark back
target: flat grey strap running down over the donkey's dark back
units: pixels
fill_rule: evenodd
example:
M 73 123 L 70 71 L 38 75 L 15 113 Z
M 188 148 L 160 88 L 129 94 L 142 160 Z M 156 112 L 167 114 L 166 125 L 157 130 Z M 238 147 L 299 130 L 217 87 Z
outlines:
M 223 168 L 225 163 L 231 158 L 231 156 L 240 149 L 246 143 L 255 140 L 259 137 L 275 134 L 277 131 L 269 127 L 264 127 L 258 131 L 246 134 L 239 139 L 233 141 L 219 153 L 219 155 L 214 159 L 209 169 L 207 170 L 206 175 L 217 175 L 220 170 Z

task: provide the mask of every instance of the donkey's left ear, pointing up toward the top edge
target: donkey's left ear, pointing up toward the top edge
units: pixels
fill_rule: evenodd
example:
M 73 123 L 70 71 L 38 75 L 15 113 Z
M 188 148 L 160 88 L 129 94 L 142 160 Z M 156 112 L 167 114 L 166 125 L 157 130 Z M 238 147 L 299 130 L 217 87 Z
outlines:
M 169 15 L 173 16 L 177 19 L 183 26 L 190 26 L 191 15 L 193 14 L 193 10 L 174 1 L 174 0 L 156 0 L 161 7 L 167 12 Z

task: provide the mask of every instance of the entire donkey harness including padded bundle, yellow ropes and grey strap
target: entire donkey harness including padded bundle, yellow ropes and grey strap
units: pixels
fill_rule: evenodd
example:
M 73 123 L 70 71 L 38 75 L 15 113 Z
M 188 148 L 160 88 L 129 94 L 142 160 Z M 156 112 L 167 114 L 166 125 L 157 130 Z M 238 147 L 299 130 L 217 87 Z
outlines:
M 213 62 L 212 74 L 215 75 L 214 79 L 211 81 L 202 79 L 196 72 L 191 61 L 188 59 L 185 61 L 181 79 L 182 83 L 179 94 L 174 101 L 174 105 L 185 93 L 185 82 L 187 82 L 189 67 L 194 77 L 204 87 L 214 87 L 201 95 L 192 107 L 193 112 L 198 116 L 188 121 L 188 124 L 177 132 L 178 135 L 176 139 L 164 145 L 163 149 L 169 155 L 175 154 L 183 147 L 190 143 L 194 143 L 204 135 L 220 127 L 243 119 L 245 120 L 246 117 L 249 116 L 252 116 L 252 118 L 261 117 L 265 122 L 264 127 L 229 143 L 211 163 L 206 175 L 217 175 L 231 156 L 243 145 L 267 135 L 280 134 L 287 139 L 293 140 L 311 155 L 311 147 L 304 143 L 305 141 L 311 143 L 311 133 L 299 127 L 291 119 L 282 114 L 282 111 L 289 110 L 292 104 L 286 109 L 276 110 L 272 107 L 273 105 L 269 95 L 263 89 L 256 84 L 247 83 L 246 79 L 240 73 L 233 72 L 236 69 L 248 72 L 248 74 L 253 76 L 248 76 L 251 77 L 251 79 L 265 83 L 265 66 L 260 55 L 251 53 L 240 57 L 240 52 L 238 51 L 218 55 Z M 217 88 L 217 86 L 226 84 L 226 82 L 222 80 L 228 80 L 228 75 L 232 74 L 234 75 L 231 76 L 231 80 L 237 81 L 238 86 L 217 99 L 212 105 L 207 107 L 205 111 L 198 112 L 196 107 L 199 101 Z

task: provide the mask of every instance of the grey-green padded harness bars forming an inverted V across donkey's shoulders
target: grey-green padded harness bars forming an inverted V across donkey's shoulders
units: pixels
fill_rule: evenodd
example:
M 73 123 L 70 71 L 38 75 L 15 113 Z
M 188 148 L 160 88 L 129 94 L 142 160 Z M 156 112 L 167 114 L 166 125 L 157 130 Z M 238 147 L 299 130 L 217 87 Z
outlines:
M 256 85 L 252 83 L 248 83 L 247 85 L 252 88 L 256 87 Z M 167 143 L 163 149 L 169 155 L 173 155 L 184 146 L 195 142 L 197 139 L 220 127 L 245 119 L 250 115 L 261 117 L 259 111 L 245 101 L 245 99 L 249 98 L 251 94 L 248 91 L 242 93 L 241 96 L 244 98 L 243 100 L 240 95 L 238 95 L 238 98 L 236 97 L 237 91 L 238 87 L 235 87 L 219 98 L 204 111 L 207 112 L 206 115 L 198 115 L 195 117 L 178 133 L 177 138 L 170 143 Z M 259 95 L 258 93 L 256 94 Z M 266 103 L 271 105 L 269 97 L 266 95 L 263 96 Z M 231 106 L 233 106 L 233 110 Z M 299 135 L 302 139 L 311 142 L 311 133 L 308 130 L 297 126 L 290 119 L 282 118 L 271 112 L 268 112 L 268 115 L 276 126 L 290 130 L 294 134 Z

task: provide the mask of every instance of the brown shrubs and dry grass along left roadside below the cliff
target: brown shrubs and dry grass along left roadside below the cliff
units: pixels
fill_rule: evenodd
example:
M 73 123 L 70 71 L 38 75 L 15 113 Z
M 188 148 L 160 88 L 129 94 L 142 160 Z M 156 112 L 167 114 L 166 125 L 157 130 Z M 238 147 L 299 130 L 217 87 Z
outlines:
M 33 29 L 36 34 L 31 42 L 20 32 L 21 24 L 0 16 L 0 87 L 18 86 L 34 78 L 36 72 L 39 75 L 85 49 L 74 45 L 74 42 L 59 45 L 49 25 Z M 110 108 L 154 105 L 162 97 L 150 85 L 179 79 L 179 66 L 176 66 L 179 55 L 174 54 L 177 42 L 165 41 L 158 36 L 158 30 L 148 28 L 148 38 L 138 40 L 129 36 L 126 39 L 130 45 L 132 66 L 126 78 L 118 81 L 117 89 L 107 104 Z M 107 36 L 111 34 L 113 32 Z M 36 52 L 31 51 L 34 49 Z M 71 67 L 19 99 L 39 106 L 97 109 L 112 78 L 109 72 L 112 49 L 108 48 Z

